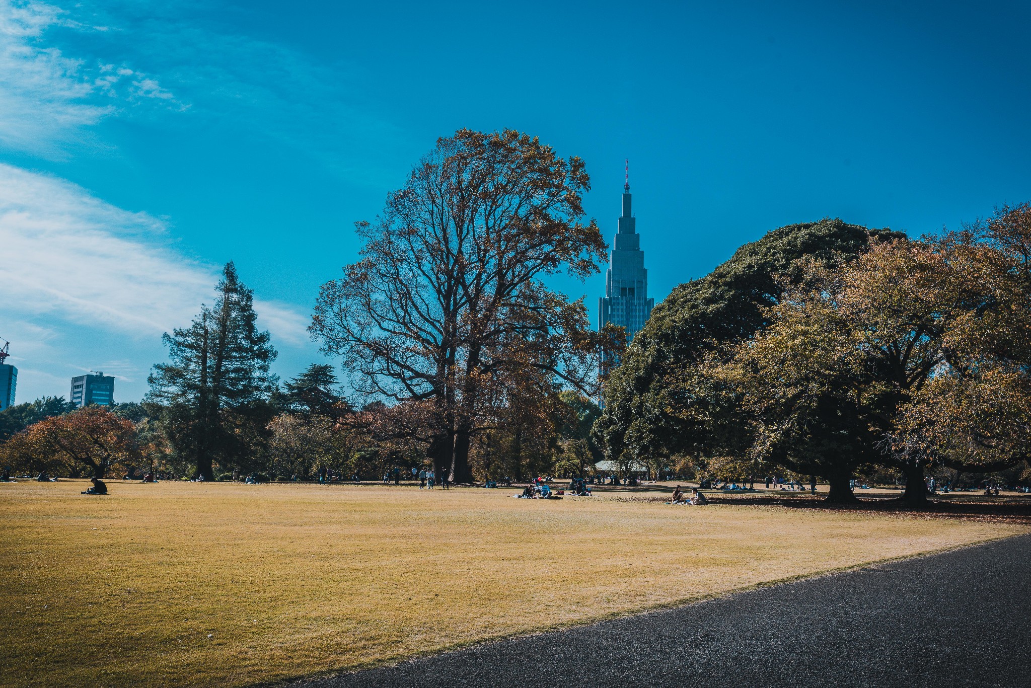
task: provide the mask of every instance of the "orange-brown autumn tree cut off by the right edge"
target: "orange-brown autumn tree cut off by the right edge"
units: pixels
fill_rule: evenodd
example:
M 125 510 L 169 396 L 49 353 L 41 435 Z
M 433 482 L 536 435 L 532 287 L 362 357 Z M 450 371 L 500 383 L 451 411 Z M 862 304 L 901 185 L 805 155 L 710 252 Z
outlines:
M 1031 205 L 934 239 L 936 285 L 963 308 L 942 363 L 897 419 L 891 444 L 911 463 L 996 471 L 1031 458 Z

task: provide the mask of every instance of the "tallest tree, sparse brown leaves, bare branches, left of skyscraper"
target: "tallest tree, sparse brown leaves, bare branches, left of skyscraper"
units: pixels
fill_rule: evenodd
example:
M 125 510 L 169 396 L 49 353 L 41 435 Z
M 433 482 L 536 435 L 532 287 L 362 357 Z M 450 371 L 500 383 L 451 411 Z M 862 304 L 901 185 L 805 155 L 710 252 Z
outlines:
M 469 452 L 492 388 L 542 371 L 594 382 L 602 337 L 583 301 L 543 277 L 597 271 L 605 242 L 584 218 L 584 162 L 514 131 L 441 138 L 358 224 L 362 260 L 322 287 L 310 331 L 360 392 L 429 402 L 434 466 L 472 479 Z M 503 395 L 502 395 L 503 396 Z

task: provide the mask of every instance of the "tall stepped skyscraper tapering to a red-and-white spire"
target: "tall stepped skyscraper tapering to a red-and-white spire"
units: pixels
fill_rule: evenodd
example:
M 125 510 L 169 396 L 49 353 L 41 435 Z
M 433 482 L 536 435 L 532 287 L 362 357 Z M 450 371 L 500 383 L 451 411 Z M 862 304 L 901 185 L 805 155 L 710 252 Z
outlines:
M 635 224 L 630 211 L 628 161 L 626 183 L 623 185 L 623 215 L 612 251 L 609 252 L 608 270 L 605 271 L 605 296 L 598 299 L 598 326 L 603 327 L 606 323 L 622 325 L 627 330 L 628 341 L 644 327 L 655 305 L 655 299 L 647 297 L 644 252 L 640 250 L 640 236 Z

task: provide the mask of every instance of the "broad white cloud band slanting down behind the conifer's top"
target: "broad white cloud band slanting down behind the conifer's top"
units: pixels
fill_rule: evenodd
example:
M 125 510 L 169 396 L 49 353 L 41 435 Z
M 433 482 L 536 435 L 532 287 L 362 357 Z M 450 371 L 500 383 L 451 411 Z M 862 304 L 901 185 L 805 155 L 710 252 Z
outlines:
M 66 181 L 0 164 L 0 283 L 8 314 L 153 337 L 187 325 L 212 300 L 218 268 L 169 243 L 165 223 Z M 306 340 L 296 307 L 256 299 L 259 322 Z M 8 316 L 10 317 L 10 316 Z

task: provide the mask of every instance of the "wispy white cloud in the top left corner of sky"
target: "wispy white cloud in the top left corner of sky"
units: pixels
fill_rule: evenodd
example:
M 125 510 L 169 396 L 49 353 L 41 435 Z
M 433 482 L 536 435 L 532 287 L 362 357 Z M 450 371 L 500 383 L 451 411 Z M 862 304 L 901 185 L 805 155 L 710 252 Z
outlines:
M 96 32 L 38 1 L 0 0 L 0 144 L 58 157 L 82 130 L 138 102 L 186 105 L 138 69 L 69 56 L 48 44 L 51 29 Z

